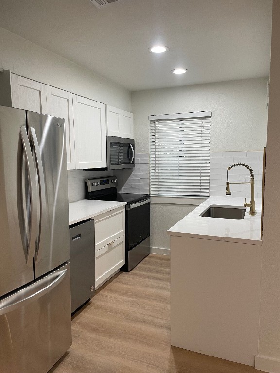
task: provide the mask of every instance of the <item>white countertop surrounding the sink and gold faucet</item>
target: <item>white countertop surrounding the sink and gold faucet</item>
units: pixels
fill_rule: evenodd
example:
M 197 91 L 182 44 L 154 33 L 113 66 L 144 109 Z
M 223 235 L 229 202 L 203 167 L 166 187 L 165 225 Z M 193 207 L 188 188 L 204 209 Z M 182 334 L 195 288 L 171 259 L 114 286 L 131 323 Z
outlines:
M 254 216 L 249 215 L 246 208 L 244 219 L 220 219 L 200 216 L 210 205 L 242 206 L 245 198 L 239 197 L 210 197 L 201 203 L 185 218 L 177 222 L 167 231 L 170 236 L 212 239 L 219 241 L 241 242 L 262 245 L 261 240 L 261 211 L 262 201 L 256 199 Z M 249 201 L 247 201 L 249 202 Z

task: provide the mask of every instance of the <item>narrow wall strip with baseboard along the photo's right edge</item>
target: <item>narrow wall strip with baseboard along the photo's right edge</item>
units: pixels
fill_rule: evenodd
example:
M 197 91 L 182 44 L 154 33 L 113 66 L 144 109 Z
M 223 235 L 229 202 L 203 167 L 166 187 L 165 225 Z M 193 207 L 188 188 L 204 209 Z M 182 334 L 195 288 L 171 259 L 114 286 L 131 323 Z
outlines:
M 280 0 L 273 0 L 258 369 L 280 372 Z

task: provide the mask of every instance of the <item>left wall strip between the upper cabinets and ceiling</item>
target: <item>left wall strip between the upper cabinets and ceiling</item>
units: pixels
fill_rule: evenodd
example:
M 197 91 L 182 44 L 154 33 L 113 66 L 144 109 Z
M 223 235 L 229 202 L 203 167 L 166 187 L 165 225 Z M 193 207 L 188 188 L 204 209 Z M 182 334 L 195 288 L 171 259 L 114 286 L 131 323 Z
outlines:
M 57 54 L 0 28 L 0 68 L 131 111 L 131 93 Z

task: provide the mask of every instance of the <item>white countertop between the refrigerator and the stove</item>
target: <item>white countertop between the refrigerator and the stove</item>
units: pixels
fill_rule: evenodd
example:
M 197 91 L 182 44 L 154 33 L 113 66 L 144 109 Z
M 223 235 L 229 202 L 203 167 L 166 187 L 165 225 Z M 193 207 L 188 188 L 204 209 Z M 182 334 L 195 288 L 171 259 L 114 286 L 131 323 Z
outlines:
M 124 206 L 126 202 L 80 200 L 69 203 L 69 225 L 94 218 L 104 212 Z

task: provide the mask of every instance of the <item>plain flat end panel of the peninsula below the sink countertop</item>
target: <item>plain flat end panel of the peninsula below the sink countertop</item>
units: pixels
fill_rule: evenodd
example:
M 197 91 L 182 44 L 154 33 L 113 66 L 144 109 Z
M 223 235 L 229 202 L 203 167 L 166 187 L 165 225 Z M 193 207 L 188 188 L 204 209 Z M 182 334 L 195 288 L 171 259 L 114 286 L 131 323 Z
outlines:
M 262 246 L 171 236 L 171 345 L 254 366 Z

